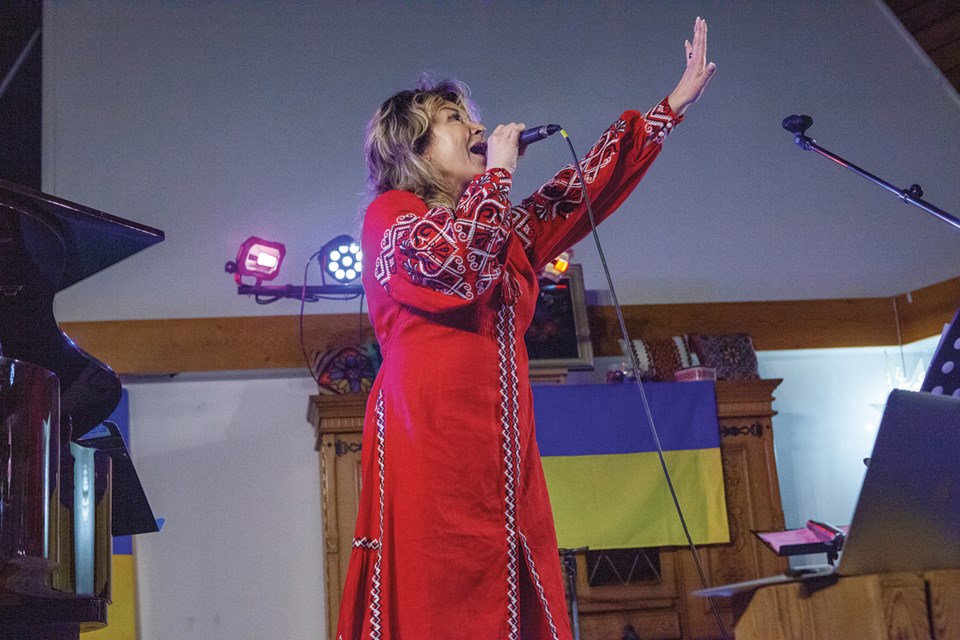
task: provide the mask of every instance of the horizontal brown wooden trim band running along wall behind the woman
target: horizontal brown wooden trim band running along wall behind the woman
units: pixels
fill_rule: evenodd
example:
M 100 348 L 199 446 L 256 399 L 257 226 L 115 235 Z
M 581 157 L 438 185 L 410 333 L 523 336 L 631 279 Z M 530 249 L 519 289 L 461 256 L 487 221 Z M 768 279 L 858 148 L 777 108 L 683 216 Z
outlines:
M 960 307 L 960 277 L 896 298 L 627 305 L 633 337 L 682 333 L 749 333 L 760 350 L 885 346 L 940 333 Z M 588 307 L 598 356 L 621 353 L 612 307 Z M 357 341 L 357 314 L 308 315 L 307 349 Z M 362 319 L 364 339 L 372 332 Z M 297 316 L 67 322 L 63 330 L 84 350 L 125 374 L 244 371 L 305 367 Z

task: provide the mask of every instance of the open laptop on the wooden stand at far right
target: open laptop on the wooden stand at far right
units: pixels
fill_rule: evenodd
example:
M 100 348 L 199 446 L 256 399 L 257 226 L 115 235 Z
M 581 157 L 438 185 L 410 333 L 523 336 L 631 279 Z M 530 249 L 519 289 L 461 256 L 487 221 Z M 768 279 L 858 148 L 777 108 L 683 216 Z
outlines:
M 958 452 L 960 398 L 892 391 L 837 565 L 693 593 L 730 597 L 830 576 L 960 569 Z

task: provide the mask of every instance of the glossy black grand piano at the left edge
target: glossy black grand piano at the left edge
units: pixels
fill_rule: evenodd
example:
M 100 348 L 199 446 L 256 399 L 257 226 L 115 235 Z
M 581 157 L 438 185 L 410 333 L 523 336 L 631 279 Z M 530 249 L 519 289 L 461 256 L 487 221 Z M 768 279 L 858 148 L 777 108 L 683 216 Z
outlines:
M 0 180 L 0 640 L 107 623 L 113 535 L 157 531 L 116 426 L 120 378 L 54 295 L 163 232 Z

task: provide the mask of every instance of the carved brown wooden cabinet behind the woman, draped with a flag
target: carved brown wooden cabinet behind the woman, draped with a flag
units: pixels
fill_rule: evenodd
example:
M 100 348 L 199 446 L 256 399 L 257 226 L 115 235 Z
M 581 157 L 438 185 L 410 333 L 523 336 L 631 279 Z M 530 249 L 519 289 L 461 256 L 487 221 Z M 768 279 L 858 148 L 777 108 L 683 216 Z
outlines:
M 773 450 L 771 408 L 780 380 L 717 383 L 724 486 L 731 542 L 700 547 L 711 585 L 782 573 L 786 562 L 773 555 L 752 530 L 783 528 L 783 510 Z M 326 588 L 333 637 L 360 492 L 360 441 L 366 396 L 316 396 L 308 418 L 320 454 L 324 514 Z M 590 586 L 584 556 L 577 557 L 577 594 L 584 640 L 620 640 L 632 626 L 640 638 L 720 637 L 709 603 L 690 592 L 701 587 L 689 550 L 648 550 L 659 568 L 647 580 Z M 732 635 L 729 603 L 718 601 Z

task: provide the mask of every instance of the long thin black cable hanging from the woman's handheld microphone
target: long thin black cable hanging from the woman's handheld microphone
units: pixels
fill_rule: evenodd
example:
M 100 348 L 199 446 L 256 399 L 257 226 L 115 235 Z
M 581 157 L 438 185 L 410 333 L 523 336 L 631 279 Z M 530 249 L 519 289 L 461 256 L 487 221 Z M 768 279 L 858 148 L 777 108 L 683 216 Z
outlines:
M 650 403 L 647 400 L 646 391 L 643 388 L 643 381 L 640 379 L 640 363 L 637 362 L 637 354 L 633 349 L 633 343 L 630 340 L 630 334 L 627 331 L 627 323 L 623 318 L 623 309 L 620 307 L 620 302 L 617 299 L 617 291 L 613 286 L 613 277 L 610 275 L 610 268 L 607 266 L 607 258 L 603 253 L 603 246 L 600 244 L 600 235 L 597 233 L 597 221 L 593 215 L 593 206 L 590 203 L 590 196 L 587 194 L 587 181 L 583 177 L 583 169 L 580 167 L 580 160 L 577 157 L 577 152 L 573 148 L 573 142 L 570 140 L 570 136 L 567 135 L 567 132 L 561 128 L 560 135 L 563 136 L 563 139 L 567 141 L 567 146 L 570 148 L 570 154 L 573 156 L 573 166 L 577 171 L 577 176 L 580 178 L 580 193 L 583 194 L 583 201 L 587 207 L 587 216 L 590 219 L 590 229 L 591 234 L 593 235 L 593 240 L 597 246 L 597 253 L 600 254 L 600 264 L 603 266 L 603 273 L 607 278 L 607 287 L 610 289 L 610 296 L 613 298 L 613 306 L 617 312 L 617 320 L 620 322 L 620 333 L 623 335 L 624 343 L 629 347 L 628 351 L 630 352 L 630 366 L 633 369 L 633 377 L 637 382 L 637 388 L 640 389 L 640 399 L 643 404 L 643 410 L 647 417 L 647 422 L 650 425 L 650 433 L 653 435 L 653 442 L 656 445 L 657 457 L 660 460 L 660 468 L 663 470 L 663 477 L 667 481 L 667 488 L 670 489 L 670 497 L 673 498 L 673 505 L 676 508 L 677 515 L 680 517 L 680 526 L 683 528 L 683 535 L 687 539 L 687 547 L 690 549 L 690 553 L 693 555 L 693 562 L 697 567 L 697 573 L 700 576 L 700 584 L 703 585 L 704 589 L 709 589 L 710 585 L 707 582 L 707 574 L 703 570 L 703 563 L 700 560 L 700 554 L 697 552 L 697 547 L 693 543 L 693 537 L 690 535 L 690 530 L 687 528 L 687 520 L 683 515 L 683 509 L 680 507 L 680 499 L 677 497 L 677 492 L 673 487 L 673 480 L 670 477 L 670 471 L 667 469 L 667 461 L 663 455 L 663 447 L 660 444 L 660 434 L 657 433 L 657 427 L 653 421 L 653 413 L 650 411 Z M 710 602 L 710 610 L 713 612 L 713 617 L 716 619 L 717 627 L 720 629 L 720 635 L 724 640 L 729 640 L 729 635 L 727 634 L 726 627 L 723 625 L 723 620 L 720 618 L 720 612 L 717 610 L 717 605 L 713 601 L 713 596 L 708 596 L 707 600 Z

